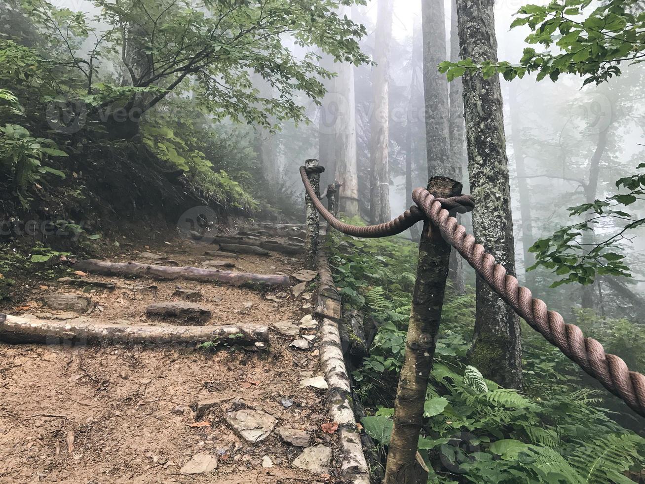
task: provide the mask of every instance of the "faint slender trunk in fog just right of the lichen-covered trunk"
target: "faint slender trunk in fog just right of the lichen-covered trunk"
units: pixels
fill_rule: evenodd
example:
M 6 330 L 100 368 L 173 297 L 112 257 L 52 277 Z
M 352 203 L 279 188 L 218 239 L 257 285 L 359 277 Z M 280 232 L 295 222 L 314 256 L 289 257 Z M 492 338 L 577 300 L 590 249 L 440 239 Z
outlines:
M 526 162 L 524 159 L 524 146 L 522 146 L 522 121 L 517 101 L 517 81 L 508 85 L 508 100 L 511 114 L 511 145 L 513 146 L 513 158 L 515 159 L 515 170 L 517 171 L 517 188 L 519 190 L 520 216 L 522 219 L 522 254 L 524 256 L 524 284 L 531 290 L 535 290 L 535 274 L 526 270 L 535 263 L 535 257 L 529 248 L 535 242 L 533 236 L 533 221 L 531 214 L 531 191 L 526 179 Z M 536 293 L 537 294 L 537 293 Z

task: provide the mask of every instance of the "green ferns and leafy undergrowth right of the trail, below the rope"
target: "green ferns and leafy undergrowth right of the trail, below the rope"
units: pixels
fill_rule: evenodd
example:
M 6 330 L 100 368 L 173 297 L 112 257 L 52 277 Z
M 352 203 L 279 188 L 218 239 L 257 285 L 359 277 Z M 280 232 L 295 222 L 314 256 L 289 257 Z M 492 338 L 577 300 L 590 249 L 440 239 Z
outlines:
M 353 379 L 356 394 L 372 413 L 362 426 L 384 448 L 392 433 L 418 245 L 395 237 L 355 239 L 334 233 L 328 246 L 344 308 L 362 310 L 379 327 Z M 448 288 L 419 438 L 429 481 L 642 482 L 642 425 L 527 325 L 522 328 L 522 392 L 501 388 L 468 365 L 474 308 L 471 288 L 464 295 Z M 636 349 L 643 347 L 642 327 L 588 311 L 579 312 L 576 322 L 608 351 L 626 356 L 634 370 L 645 369 L 642 351 Z M 375 470 L 375 477 L 381 472 Z

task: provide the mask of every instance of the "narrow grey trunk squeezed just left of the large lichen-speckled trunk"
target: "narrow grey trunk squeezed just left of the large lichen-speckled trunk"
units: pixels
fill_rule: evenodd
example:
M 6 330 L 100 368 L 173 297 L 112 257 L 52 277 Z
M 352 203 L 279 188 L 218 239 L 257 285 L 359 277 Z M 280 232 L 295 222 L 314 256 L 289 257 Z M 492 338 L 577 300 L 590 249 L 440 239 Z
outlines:
M 457 2 L 452 0 L 450 9 L 450 61 L 459 61 L 459 29 L 457 27 Z M 464 123 L 464 88 L 461 77 L 450 82 L 450 118 L 448 119 L 448 132 L 450 133 L 450 164 L 455 167 L 455 179 L 463 183 L 464 166 L 466 156 L 464 146 L 466 145 L 466 125 Z M 461 222 L 461 216 L 457 215 Z M 464 259 L 459 252 L 453 250 L 450 253 L 450 274 L 453 288 L 457 294 L 466 293 L 466 282 L 464 281 Z

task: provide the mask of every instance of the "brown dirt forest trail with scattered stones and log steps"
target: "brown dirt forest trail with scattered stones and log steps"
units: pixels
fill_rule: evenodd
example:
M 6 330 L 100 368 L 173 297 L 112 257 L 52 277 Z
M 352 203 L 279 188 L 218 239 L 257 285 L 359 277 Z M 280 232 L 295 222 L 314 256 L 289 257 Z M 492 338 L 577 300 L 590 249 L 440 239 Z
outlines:
M 167 239 L 154 245 L 122 244 L 109 259 L 195 267 L 221 260 L 235 265 L 229 270 L 287 276 L 302 268 L 297 255 L 224 258 L 215 248 Z M 189 297 L 210 310 L 206 325 L 269 325 L 269 348 L 0 343 L 0 483 L 333 481 L 328 474 L 337 474 L 334 463 L 313 473 L 295 465 L 306 467 L 302 462 L 313 450 L 323 456 L 324 467 L 330 450 L 336 455 L 339 445 L 337 434 L 321 429 L 329 421 L 324 390 L 301 385 L 320 374 L 317 341 L 310 338 L 308 349 L 289 346 L 299 332 L 317 334 L 313 327 L 299 328 L 312 312 L 311 292 L 294 297 L 290 287 L 260 291 L 179 279 L 79 278 L 84 282 L 78 287 L 41 281 L 25 288 L 23 303 L 1 312 L 59 321 L 78 318 L 43 302 L 47 296 L 74 294 L 91 299 L 83 318 L 155 325 L 146 308 L 182 301 L 175 294 L 179 287 L 183 297 L 195 292 Z M 89 281 L 114 288 L 94 287 Z M 291 323 L 279 325 L 283 332 L 272 327 L 281 321 Z M 241 431 L 257 438 L 255 443 L 233 428 L 257 418 L 263 429 L 252 435 Z

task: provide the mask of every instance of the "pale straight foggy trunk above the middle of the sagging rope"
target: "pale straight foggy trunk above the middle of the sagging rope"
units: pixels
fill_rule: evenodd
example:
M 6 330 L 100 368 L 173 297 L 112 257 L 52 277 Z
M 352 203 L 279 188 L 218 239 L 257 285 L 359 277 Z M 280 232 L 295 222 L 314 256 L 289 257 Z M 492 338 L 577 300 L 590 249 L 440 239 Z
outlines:
M 379 0 L 373 68 L 374 106 L 370 137 L 370 221 L 390 220 L 390 51 L 392 45 L 392 0 Z

